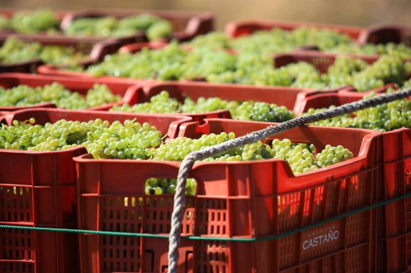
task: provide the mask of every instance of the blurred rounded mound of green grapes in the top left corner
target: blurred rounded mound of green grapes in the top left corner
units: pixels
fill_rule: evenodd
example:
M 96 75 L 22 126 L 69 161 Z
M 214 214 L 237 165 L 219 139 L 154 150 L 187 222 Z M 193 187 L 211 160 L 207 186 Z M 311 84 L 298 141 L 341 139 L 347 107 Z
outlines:
M 51 9 L 18 11 L 9 21 L 9 27 L 21 33 L 58 30 L 59 24 L 57 15 Z

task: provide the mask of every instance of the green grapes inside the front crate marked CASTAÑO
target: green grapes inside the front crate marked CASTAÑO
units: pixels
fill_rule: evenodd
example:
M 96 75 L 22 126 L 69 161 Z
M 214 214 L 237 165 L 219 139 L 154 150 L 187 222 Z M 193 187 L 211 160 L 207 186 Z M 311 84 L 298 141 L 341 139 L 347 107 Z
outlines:
M 178 137 L 157 149 L 152 149 L 153 160 L 176 160 L 181 161 L 185 156 L 194 151 L 200 151 L 208 146 L 220 144 L 235 138 L 235 134 L 222 132 L 220 134 L 202 135 L 199 139 Z M 331 146 L 327 144 L 325 149 L 315 154 L 313 144 L 292 143 L 289 139 L 274 139 L 272 146 L 261 141 L 247 144 L 229 150 L 219 155 L 204 159 L 205 162 L 214 161 L 249 161 L 278 158 L 286 160 L 295 175 L 326 167 L 332 164 L 353 158 L 353 153 L 342 145 Z M 145 183 L 147 195 L 174 194 L 177 179 L 150 178 Z M 195 195 L 197 183 L 194 179 L 188 179 L 185 194 Z

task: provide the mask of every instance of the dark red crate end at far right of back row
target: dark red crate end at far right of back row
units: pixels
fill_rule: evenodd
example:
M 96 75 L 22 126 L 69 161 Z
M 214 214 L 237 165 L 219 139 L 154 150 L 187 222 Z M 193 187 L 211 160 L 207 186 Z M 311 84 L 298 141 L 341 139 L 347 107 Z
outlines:
M 400 24 L 377 24 L 368 27 L 359 37 L 361 45 L 404 43 L 411 46 L 411 26 Z

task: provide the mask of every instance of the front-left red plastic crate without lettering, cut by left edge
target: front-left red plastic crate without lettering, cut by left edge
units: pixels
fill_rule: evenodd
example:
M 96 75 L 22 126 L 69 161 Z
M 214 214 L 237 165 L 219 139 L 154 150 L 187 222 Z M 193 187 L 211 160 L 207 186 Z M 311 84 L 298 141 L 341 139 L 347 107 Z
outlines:
M 3 122 L 27 120 L 55 122 L 60 119 L 88 121 L 137 118 L 175 137 L 188 117 L 116 114 L 98 111 L 31 109 L 7 114 Z M 0 150 L 0 223 L 38 227 L 77 227 L 77 200 L 73 157 L 83 147 L 57 152 Z M 13 187 L 16 187 L 14 193 Z M 76 234 L 0 229 L 0 263 L 4 272 L 78 272 Z

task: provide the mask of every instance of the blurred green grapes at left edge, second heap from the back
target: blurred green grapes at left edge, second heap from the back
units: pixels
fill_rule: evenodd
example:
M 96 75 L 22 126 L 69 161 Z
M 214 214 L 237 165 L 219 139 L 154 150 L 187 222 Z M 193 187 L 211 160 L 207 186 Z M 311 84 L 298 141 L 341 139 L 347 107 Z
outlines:
M 26 42 L 9 37 L 0 48 L 0 62 L 13 64 L 40 58 L 46 64 L 76 65 L 84 58 L 81 52 L 72 47 L 43 46 L 37 42 Z

